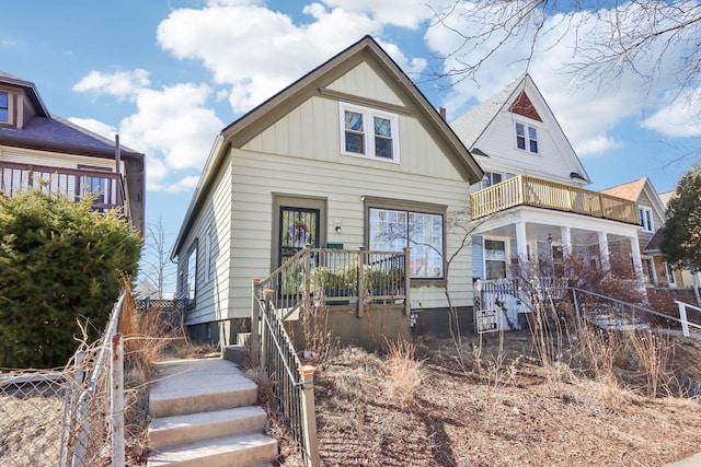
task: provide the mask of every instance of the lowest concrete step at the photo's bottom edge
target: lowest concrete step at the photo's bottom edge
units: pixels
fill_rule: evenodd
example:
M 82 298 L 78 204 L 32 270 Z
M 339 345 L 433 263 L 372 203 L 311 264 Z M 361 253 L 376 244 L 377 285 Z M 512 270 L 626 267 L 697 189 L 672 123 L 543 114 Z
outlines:
M 148 467 L 252 467 L 271 464 L 277 457 L 277 441 L 261 434 L 219 437 L 161 450 L 149 456 Z

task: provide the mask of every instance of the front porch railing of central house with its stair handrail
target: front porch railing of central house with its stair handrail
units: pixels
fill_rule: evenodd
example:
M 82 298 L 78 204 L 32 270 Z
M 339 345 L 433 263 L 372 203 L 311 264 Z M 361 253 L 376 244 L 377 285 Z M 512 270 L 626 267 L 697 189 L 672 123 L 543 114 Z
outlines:
M 251 361 L 269 381 L 276 408 L 302 447 L 304 462 L 320 464 L 314 415 L 314 369 L 302 365 L 285 320 L 304 303 L 348 304 L 363 316 L 366 302 L 403 301 L 410 310 L 410 252 L 312 248 L 307 245 L 271 276 L 253 280 Z

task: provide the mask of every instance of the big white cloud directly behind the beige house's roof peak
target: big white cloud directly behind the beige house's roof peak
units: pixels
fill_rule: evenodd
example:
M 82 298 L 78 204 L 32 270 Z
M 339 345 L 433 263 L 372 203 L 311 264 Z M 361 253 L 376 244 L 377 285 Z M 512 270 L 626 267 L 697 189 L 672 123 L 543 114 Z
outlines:
M 381 34 L 389 21 L 386 2 L 376 2 L 377 8 L 369 2 L 324 3 L 307 4 L 303 13 L 310 21 L 295 24 L 289 15 L 261 1 L 209 1 L 202 10 L 173 11 L 159 25 L 158 42 L 176 58 L 200 61 L 217 84 L 231 87 L 231 107 L 242 113 L 364 35 Z M 407 5 L 392 24 L 415 26 L 427 17 L 423 0 Z M 383 46 L 406 71 L 426 66 L 425 60 L 405 57 L 397 46 Z

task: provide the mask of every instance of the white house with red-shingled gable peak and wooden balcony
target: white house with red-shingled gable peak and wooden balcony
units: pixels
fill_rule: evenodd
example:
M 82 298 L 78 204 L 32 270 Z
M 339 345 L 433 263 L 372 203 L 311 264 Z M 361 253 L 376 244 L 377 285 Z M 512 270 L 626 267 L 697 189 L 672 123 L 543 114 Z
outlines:
M 606 265 L 622 252 L 642 278 L 635 202 L 583 188 L 589 177 L 530 75 L 451 127 L 484 170 L 471 194 L 475 280 L 507 278 L 517 258 L 556 271 L 567 253 Z

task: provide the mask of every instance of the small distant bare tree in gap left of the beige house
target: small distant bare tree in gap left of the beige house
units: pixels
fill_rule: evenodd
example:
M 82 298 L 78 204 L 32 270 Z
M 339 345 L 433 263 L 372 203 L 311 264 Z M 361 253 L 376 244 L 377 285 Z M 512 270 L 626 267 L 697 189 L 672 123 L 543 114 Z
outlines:
M 175 276 L 175 265 L 170 261 L 169 255 L 170 241 L 171 235 L 166 232 L 162 218 L 148 224 L 139 276 L 156 289 L 156 299 L 163 299 L 168 281 Z

